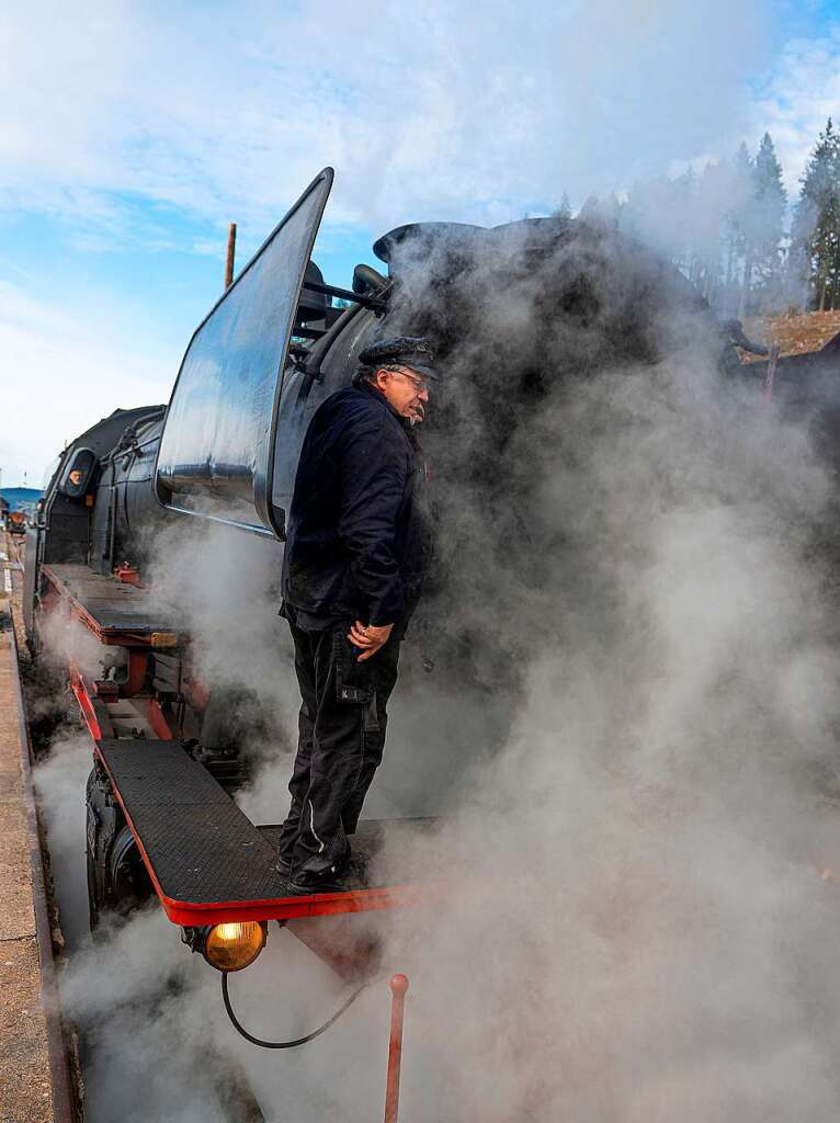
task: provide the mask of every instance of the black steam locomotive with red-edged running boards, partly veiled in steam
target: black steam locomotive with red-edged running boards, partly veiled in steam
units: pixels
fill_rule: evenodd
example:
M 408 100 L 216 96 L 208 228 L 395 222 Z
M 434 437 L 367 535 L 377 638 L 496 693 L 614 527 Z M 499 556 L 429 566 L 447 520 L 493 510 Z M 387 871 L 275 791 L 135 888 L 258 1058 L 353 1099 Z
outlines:
M 99 645 L 99 667 L 71 651 L 66 668 L 95 748 L 86 789 L 91 923 L 156 894 L 185 941 L 225 970 L 253 960 L 270 919 L 291 924 L 387 907 L 408 891 L 359 886 L 325 900 L 283 898 L 272 880 L 271 828 L 252 824 L 230 798 L 248 778 L 241 729 L 230 718 L 235 700 L 201 681 L 188 624 L 148 586 L 161 531 L 193 520 L 257 536 L 279 569 L 313 412 L 351 380 L 359 351 L 377 337 L 431 336 L 446 377 L 423 433 L 442 559 L 429 595 L 447 619 L 464 594 L 448 578 L 457 578 L 456 508 L 465 495 L 481 512 L 485 560 L 497 554 L 538 579 L 536 500 L 514 453 L 558 383 L 652 366 L 687 347 L 704 348 L 724 368 L 738 363 L 675 267 L 597 223 L 404 226 L 374 246 L 386 273 L 359 265 L 350 289 L 326 284 L 311 254 L 331 183 L 329 168 L 314 179 L 197 328 L 168 407 L 116 410 L 67 446 L 27 537 L 33 649 L 46 645 L 56 619 L 74 620 Z M 473 613 L 473 631 L 464 626 L 455 639 L 424 637 L 435 657 L 424 655 L 417 690 L 440 688 L 430 664 L 445 668 L 449 685 L 459 668 L 463 696 L 480 699 L 476 721 L 486 722 L 490 741 L 502 722 L 493 687 L 512 660 L 490 645 L 480 672 L 465 659 L 465 637 L 482 649 L 480 618 Z M 433 739 L 428 729 L 424 736 Z M 389 757 L 398 767 L 404 751 L 393 733 Z M 417 760 L 407 772 L 424 788 L 453 757 L 447 746 L 426 743 L 429 772 Z M 441 810 L 431 803 L 423 813 Z M 417 806 L 398 791 L 392 816 Z M 382 843 L 381 824 L 372 838 Z

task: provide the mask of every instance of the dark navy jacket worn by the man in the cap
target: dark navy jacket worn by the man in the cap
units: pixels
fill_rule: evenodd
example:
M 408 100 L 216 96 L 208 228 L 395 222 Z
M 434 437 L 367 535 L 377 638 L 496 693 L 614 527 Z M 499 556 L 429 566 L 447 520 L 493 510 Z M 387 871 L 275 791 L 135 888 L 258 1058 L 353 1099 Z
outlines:
M 303 439 L 283 600 L 323 620 L 404 624 L 429 550 L 426 471 L 408 421 L 365 383 L 331 394 Z

